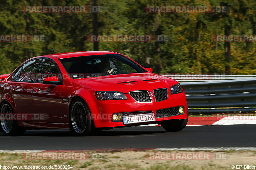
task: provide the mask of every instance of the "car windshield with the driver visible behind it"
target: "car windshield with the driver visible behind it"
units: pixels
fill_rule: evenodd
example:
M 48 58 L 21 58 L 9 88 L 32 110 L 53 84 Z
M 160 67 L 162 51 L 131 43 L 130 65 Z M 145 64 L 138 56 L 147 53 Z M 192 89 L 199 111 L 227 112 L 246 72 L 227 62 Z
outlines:
M 138 64 L 119 54 L 72 57 L 60 61 L 71 78 L 146 72 Z

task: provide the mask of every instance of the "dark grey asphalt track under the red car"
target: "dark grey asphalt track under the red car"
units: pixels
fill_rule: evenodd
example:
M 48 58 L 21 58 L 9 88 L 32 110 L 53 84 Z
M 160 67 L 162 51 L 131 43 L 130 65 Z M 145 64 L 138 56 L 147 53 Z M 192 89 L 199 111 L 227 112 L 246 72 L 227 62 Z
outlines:
M 178 132 L 166 132 L 162 127 L 127 127 L 90 137 L 73 137 L 68 130 L 28 130 L 24 136 L 0 132 L 0 150 L 256 147 L 255 141 L 256 124 L 187 126 Z

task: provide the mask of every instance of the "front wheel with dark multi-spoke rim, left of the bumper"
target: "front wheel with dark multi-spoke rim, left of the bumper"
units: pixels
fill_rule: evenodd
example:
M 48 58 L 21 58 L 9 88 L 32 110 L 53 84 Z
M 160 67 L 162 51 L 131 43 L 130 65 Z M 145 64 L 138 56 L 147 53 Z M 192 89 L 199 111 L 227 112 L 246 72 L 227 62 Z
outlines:
M 89 108 L 82 99 L 72 102 L 69 115 L 69 130 L 75 136 L 87 136 L 92 134 L 92 119 Z

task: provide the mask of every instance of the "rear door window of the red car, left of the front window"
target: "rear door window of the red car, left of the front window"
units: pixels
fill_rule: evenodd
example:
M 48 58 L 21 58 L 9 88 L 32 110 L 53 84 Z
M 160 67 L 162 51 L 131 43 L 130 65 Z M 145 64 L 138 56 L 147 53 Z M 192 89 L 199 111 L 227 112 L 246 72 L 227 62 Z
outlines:
M 23 64 L 22 69 L 16 72 L 14 74 L 13 78 L 15 78 L 17 81 L 25 81 L 25 82 L 34 82 L 36 70 L 38 66 L 39 59 L 29 61 L 25 64 Z M 17 73 L 19 73 L 19 76 Z

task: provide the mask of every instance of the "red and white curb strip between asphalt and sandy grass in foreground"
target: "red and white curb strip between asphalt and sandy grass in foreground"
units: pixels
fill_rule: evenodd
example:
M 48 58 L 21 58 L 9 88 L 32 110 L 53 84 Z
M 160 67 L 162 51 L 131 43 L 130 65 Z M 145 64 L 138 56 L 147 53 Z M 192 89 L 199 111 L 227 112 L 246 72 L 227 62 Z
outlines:
M 0 150 L 0 153 L 38 153 L 38 152 L 113 152 L 113 151 L 256 151 L 256 147 L 183 147 L 183 148 L 123 148 L 89 150 Z

